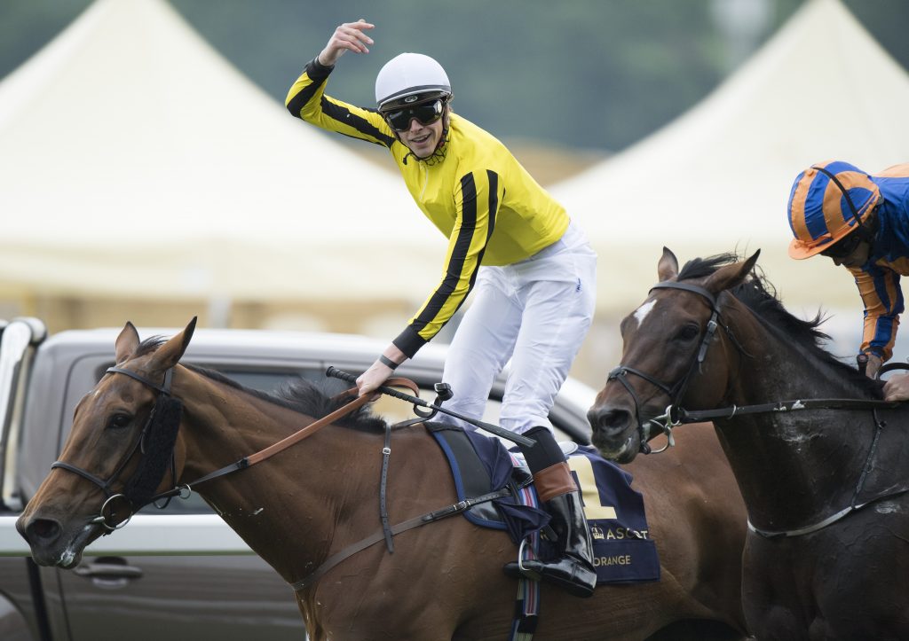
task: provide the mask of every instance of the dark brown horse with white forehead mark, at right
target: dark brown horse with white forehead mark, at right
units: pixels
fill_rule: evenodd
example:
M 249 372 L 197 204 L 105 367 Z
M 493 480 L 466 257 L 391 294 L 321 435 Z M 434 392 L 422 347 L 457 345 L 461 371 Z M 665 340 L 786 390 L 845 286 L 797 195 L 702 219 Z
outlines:
M 712 419 L 748 511 L 752 634 L 909 638 L 909 414 L 826 349 L 822 313 L 784 309 L 758 253 L 679 271 L 664 248 L 588 412 L 594 445 L 627 462 L 655 434 Z

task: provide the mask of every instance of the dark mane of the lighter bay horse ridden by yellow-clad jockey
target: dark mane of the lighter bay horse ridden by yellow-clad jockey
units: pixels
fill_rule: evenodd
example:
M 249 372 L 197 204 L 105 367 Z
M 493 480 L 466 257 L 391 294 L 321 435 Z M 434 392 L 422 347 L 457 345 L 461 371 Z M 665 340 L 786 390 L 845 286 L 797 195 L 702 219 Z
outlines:
M 135 349 L 133 358 L 157 350 L 166 340 L 167 339 L 163 336 L 152 336 L 151 338 L 143 340 Z M 237 381 L 227 378 L 219 371 L 208 370 L 197 365 L 185 365 L 185 367 L 188 370 L 193 370 L 196 373 L 205 376 L 205 378 L 216 380 L 235 390 L 244 391 L 258 399 L 275 403 L 275 405 L 280 405 L 287 409 L 293 409 L 296 412 L 311 416 L 315 419 L 321 419 L 351 400 L 348 397 L 335 399 L 336 394 L 345 390 L 341 381 L 338 380 L 326 379 L 316 383 L 312 380 L 299 377 L 285 381 L 285 383 L 274 392 L 264 392 L 247 388 L 245 385 L 241 385 Z M 356 409 L 344 418 L 338 419 L 335 422 L 335 425 L 363 431 L 383 431 L 385 429 L 385 419 L 376 417 L 370 412 L 368 407 L 364 406 Z

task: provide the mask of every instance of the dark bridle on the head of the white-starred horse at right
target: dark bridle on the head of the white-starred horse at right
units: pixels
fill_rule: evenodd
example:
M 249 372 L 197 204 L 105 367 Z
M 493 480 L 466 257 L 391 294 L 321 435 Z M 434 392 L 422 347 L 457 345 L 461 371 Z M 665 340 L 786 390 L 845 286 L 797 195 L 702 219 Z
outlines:
M 704 358 L 707 355 L 707 348 L 710 347 L 710 343 L 714 339 L 714 334 L 716 333 L 716 328 L 719 326 L 720 318 L 720 308 L 717 305 L 716 297 L 712 291 L 708 291 L 698 285 L 691 285 L 686 282 L 676 281 L 658 282 L 650 289 L 650 291 L 661 289 L 691 291 L 698 296 L 703 297 L 704 300 L 707 301 L 707 303 L 710 305 L 711 315 L 710 320 L 707 320 L 704 336 L 701 337 L 701 344 L 698 347 L 696 354 L 694 355 L 694 359 L 691 361 L 691 365 L 689 365 L 688 370 L 685 371 L 684 376 L 681 379 L 677 380 L 674 385 L 670 386 L 667 383 L 657 380 L 646 372 L 635 370 L 634 368 L 627 367 L 625 365 L 619 365 L 614 370 L 610 371 L 609 376 L 606 378 L 607 381 L 618 380 L 620 383 L 622 383 L 624 389 L 628 390 L 631 398 L 634 399 L 634 413 L 637 416 L 637 430 L 641 442 L 641 451 L 644 452 L 644 454 L 649 454 L 652 450 L 650 449 L 650 445 L 647 443 L 648 430 L 644 429 L 644 421 L 641 420 L 641 400 L 634 392 L 634 387 L 632 384 L 628 382 L 628 374 L 634 374 L 634 376 L 638 377 L 639 379 L 646 380 L 658 390 L 663 391 L 664 394 L 669 397 L 669 405 L 666 406 L 665 413 L 662 416 L 658 416 L 654 419 L 648 419 L 645 421 L 648 426 L 651 423 L 655 423 L 656 425 L 660 426 L 661 429 L 663 429 L 668 441 L 662 449 L 653 450 L 656 453 L 662 452 L 664 449 L 674 445 L 672 430 L 681 422 L 677 419 L 678 405 L 684 398 L 685 391 L 688 390 L 688 384 L 691 382 L 692 376 L 694 375 L 694 370 L 700 370 L 702 363 L 704 363 Z

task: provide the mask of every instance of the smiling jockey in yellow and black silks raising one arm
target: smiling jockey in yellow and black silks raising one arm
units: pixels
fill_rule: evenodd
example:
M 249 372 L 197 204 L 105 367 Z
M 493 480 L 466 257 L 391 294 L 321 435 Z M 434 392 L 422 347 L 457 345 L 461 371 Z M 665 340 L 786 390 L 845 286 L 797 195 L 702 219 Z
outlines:
M 502 143 L 453 113 L 448 76 L 429 56 L 400 54 L 382 67 L 377 110 L 325 94 L 345 51 L 369 52 L 373 40 L 365 32 L 373 26 L 364 20 L 338 26 L 286 100 L 290 113 L 308 123 L 385 146 L 416 204 L 448 238 L 435 291 L 357 379 L 359 392 L 382 385 L 475 291 L 445 361 L 443 380 L 454 391 L 445 408 L 481 418 L 495 376 L 511 359 L 500 422 L 535 441 L 524 456 L 559 550 L 559 557 L 526 561 L 524 568 L 589 597 L 596 583 L 590 531 L 548 415 L 593 319 L 596 255 Z M 505 571 L 520 570 L 509 564 Z

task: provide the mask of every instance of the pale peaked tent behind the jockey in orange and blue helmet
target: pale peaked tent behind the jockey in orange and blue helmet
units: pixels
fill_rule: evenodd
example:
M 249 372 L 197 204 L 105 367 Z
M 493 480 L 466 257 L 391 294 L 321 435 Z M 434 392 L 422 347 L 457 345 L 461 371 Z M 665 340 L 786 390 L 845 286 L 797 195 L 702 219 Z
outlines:
M 551 188 L 600 254 L 601 309 L 644 300 L 664 245 L 680 261 L 760 248 L 790 309 L 860 308 L 842 268 L 788 258 L 786 201 L 812 163 L 909 161 L 907 104 L 909 75 L 839 0 L 809 0 L 701 104 Z

